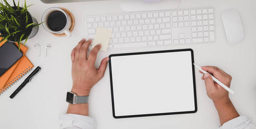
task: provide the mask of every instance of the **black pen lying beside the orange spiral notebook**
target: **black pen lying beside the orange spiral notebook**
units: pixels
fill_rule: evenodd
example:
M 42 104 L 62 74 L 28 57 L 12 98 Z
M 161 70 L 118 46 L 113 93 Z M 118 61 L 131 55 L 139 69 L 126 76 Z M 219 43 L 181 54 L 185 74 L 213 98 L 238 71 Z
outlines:
M 37 68 L 24 80 L 24 82 L 12 93 L 10 98 L 14 98 L 15 95 L 19 93 L 19 91 L 28 83 L 31 81 L 31 79 L 39 72 L 41 71 L 41 68 L 37 66 Z

